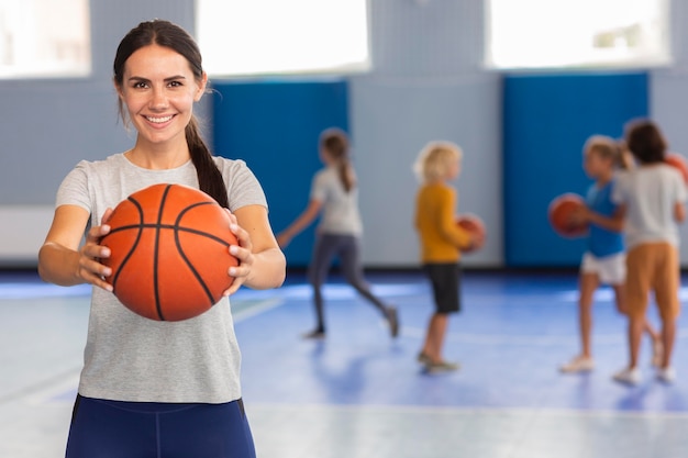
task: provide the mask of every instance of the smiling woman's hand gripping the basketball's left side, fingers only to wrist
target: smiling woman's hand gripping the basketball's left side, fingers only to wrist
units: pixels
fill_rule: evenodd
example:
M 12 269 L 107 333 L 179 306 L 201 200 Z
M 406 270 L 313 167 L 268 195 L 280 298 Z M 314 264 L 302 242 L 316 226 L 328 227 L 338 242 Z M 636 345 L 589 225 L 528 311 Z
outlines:
M 107 224 L 112 215 L 112 209 L 106 210 L 100 226 L 91 227 L 86 235 L 86 242 L 79 249 L 79 265 L 77 276 L 85 282 L 112 291 L 112 284 L 106 278 L 112 275 L 112 269 L 100 262 L 102 258 L 110 257 L 110 248 L 100 245 L 102 237 L 110 233 Z

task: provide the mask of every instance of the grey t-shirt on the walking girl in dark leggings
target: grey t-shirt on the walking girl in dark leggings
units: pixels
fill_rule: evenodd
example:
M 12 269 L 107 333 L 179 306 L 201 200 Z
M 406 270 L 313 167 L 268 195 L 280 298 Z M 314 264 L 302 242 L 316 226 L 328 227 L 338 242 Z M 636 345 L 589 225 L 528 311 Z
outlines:
M 311 185 L 311 200 L 322 202 L 321 234 L 355 235 L 363 233 L 358 212 L 358 188 L 346 192 L 336 167 L 318 171 Z

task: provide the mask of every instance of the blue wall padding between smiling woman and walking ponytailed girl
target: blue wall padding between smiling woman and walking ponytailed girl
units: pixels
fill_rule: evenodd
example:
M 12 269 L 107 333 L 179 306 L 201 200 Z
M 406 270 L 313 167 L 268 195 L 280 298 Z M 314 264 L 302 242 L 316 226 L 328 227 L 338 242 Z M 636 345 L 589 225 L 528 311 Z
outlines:
M 348 131 L 347 83 L 222 81 L 213 89 L 214 152 L 246 161 L 263 185 L 278 233 L 308 204 L 311 179 L 322 167 L 320 133 L 331 126 Z M 309 264 L 317 223 L 285 249 L 290 267 Z

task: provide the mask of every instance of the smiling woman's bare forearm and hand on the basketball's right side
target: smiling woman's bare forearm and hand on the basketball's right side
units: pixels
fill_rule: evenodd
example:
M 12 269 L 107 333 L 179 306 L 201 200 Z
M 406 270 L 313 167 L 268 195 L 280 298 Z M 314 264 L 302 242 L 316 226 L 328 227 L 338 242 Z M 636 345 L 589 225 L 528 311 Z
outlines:
M 230 268 L 234 277 L 232 287 L 224 293 L 234 293 L 242 284 L 253 289 L 278 288 L 285 281 L 287 260 L 279 249 L 263 205 L 247 205 L 230 214 L 230 228 L 238 239 L 238 246 L 230 253 L 240 260 Z

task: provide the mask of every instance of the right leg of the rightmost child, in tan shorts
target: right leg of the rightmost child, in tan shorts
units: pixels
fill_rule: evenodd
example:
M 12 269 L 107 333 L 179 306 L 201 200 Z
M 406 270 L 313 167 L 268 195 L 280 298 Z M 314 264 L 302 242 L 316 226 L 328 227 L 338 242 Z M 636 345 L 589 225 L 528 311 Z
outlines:
M 669 244 L 653 244 L 653 248 L 656 256 L 653 289 L 662 316 L 662 342 L 664 344 L 662 367 L 666 368 L 672 362 L 676 339 L 676 319 L 680 313 L 678 250 Z

